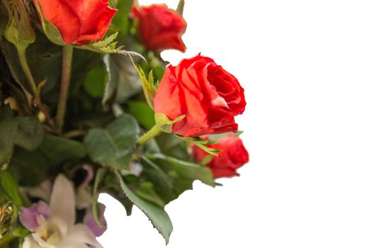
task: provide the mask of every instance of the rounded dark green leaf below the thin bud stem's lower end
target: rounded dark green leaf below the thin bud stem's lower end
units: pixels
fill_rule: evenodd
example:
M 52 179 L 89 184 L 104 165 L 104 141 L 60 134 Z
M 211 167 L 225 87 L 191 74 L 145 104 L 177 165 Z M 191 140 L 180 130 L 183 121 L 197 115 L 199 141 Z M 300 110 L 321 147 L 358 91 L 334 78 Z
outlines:
M 44 130 L 39 121 L 34 117 L 18 117 L 18 128 L 14 137 L 14 144 L 33 151 L 41 144 Z

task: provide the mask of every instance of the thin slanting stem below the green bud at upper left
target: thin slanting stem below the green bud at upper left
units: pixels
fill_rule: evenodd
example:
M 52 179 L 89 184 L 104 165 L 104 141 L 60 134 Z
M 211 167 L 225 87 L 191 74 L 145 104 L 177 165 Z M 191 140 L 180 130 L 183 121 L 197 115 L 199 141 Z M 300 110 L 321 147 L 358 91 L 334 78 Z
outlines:
M 25 46 L 25 45 L 16 45 L 19 62 L 21 64 L 24 74 L 26 75 L 28 84 L 30 85 L 31 90 L 33 91 L 33 97 L 34 97 L 33 103 L 35 103 L 35 106 L 38 107 L 39 110 L 45 114 L 45 117 L 47 118 L 49 125 L 53 126 L 54 122 L 52 118 L 50 118 L 49 113 L 47 113 L 47 111 L 45 110 L 43 104 L 41 103 L 38 87 L 35 84 L 35 80 L 33 79 L 33 74 L 31 73 L 30 67 L 28 66 L 27 57 L 26 57 L 27 47 L 28 46 Z M 27 96 L 27 94 L 29 94 L 28 91 L 26 91 L 26 89 L 24 89 L 24 91 Z

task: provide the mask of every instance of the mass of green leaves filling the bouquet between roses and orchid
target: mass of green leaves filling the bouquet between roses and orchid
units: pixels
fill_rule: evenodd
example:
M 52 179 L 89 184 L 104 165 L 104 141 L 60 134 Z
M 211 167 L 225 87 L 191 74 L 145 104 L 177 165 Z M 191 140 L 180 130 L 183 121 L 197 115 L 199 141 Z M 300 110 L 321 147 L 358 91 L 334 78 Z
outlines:
M 62 47 L 45 35 L 30 4 L 35 42 L 26 50 L 26 61 L 40 94 L 35 101 L 16 46 L 5 37 L 9 13 L 0 1 L 0 247 L 13 247 L 27 235 L 17 214 L 35 199 L 21 194 L 23 188 L 60 173 L 79 185 L 84 164 L 96 172 L 91 186 L 97 221 L 98 194 L 109 193 L 123 203 L 128 215 L 137 205 L 166 242 L 172 225 L 164 206 L 191 189 L 195 180 L 215 186 L 210 169 L 195 164 L 188 151 L 188 142 L 199 144 L 198 140 L 162 133 L 137 145 L 140 135 L 155 125 L 154 82 L 162 79 L 167 62 L 140 44 L 128 16 L 133 0 L 112 2 L 120 11 L 106 39 L 74 49 L 64 127 L 59 132 L 55 115 Z M 145 76 L 149 74 L 150 82 Z

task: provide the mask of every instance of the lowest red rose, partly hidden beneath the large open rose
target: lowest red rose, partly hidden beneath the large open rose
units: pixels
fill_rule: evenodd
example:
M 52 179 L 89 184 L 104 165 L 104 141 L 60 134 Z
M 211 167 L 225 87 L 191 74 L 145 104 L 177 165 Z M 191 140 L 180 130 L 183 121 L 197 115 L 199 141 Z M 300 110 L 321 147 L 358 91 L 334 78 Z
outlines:
M 206 166 L 213 172 L 213 177 L 239 176 L 237 169 L 249 162 L 249 154 L 239 137 L 227 135 L 215 145 L 208 145 L 218 150 L 222 150 L 218 155 L 213 156 Z M 208 154 L 201 148 L 193 146 L 193 155 L 196 162 L 200 162 Z

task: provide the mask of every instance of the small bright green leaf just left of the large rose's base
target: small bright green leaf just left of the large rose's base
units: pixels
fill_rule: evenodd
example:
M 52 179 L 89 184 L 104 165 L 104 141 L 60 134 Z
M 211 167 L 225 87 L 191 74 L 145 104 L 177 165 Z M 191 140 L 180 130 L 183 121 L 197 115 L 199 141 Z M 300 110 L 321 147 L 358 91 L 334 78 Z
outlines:
M 154 111 L 143 101 L 131 101 L 128 103 L 128 113 L 133 115 L 138 123 L 147 130 L 155 125 Z

